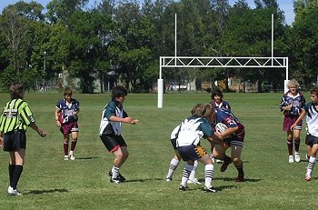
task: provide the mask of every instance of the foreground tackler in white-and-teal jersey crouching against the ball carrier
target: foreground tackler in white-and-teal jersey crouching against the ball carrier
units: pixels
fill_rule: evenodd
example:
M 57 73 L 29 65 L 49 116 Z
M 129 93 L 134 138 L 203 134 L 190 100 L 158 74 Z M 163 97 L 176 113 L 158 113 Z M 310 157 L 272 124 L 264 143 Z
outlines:
M 214 107 L 212 105 L 196 105 L 194 107 L 193 115 L 184 119 L 184 121 L 174 129 L 174 136 L 172 144 L 176 153 L 180 155 L 186 165 L 182 176 L 180 191 L 188 190 L 187 181 L 194 167 L 194 161 L 197 160 L 205 165 L 204 168 L 204 192 L 216 192 L 212 186 L 212 179 L 214 175 L 214 165 L 209 155 L 200 144 L 202 137 L 206 138 L 210 143 L 223 145 L 220 140 L 220 134 L 214 134 L 210 122 L 214 121 Z M 173 136 L 173 135 L 172 135 Z M 221 147 L 221 146 L 220 146 Z

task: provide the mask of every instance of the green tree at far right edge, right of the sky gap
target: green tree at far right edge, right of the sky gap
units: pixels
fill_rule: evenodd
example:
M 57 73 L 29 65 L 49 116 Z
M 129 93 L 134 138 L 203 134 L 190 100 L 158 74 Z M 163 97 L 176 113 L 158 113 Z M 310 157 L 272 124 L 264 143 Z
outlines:
M 317 80 L 318 15 L 317 1 L 296 1 L 295 21 L 291 29 L 293 77 L 310 87 Z

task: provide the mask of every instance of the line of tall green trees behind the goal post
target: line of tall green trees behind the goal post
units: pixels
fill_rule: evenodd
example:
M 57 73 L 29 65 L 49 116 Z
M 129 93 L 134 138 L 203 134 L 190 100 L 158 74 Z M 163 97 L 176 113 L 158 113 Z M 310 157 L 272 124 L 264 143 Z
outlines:
M 8 5 L 0 15 L 0 85 L 20 80 L 35 88 L 42 78 L 67 72 L 82 93 L 93 93 L 95 81 L 121 81 L 130 90 L 149 90 L 159 74 L 159 57 L 174 55 L 177 15 L 179 56 L 289 57 L 290 77 L 305 87 L 318 80 L 318 3 L 293 1 L 295 19 L 285 23 L 276 0 L 52 0 Z M 235 77 L 283 89 L 279 69 L 169 69 L 164 80 L 214 81 Z M 226 86 L 226 88 L 228 88 Z

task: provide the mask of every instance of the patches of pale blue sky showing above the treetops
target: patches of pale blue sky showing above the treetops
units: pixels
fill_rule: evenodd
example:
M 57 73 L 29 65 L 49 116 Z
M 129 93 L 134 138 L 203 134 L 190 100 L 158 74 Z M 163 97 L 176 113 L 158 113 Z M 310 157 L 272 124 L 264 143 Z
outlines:
M 7 5 L 13 5 L 19 0 L 0 0 L 0 12 L 3 11 L 5 6 Z M 25 2 L 31 2 L 32 0 L 25 0 Z M 34 0 L 37 3 L 40 3 L 41 5 L 47 5 L 47 3 L 50 2 L 50 0 Z M 94 5 L 94 2 L 100 2 L 99 0 L 90 0 L 90 5 Z M 229 0 L 230 5 L 234 5 L 235 0 Z M 254 8 L 253 0 L 247 0 L 248 5 L 250 5 L 252 8 Z M 293 23 L 293 0 L 277 0 L 277 3 L 281 10 L 283 10 L 285 15 L 285 20 L 288 25 L 291 25 Z

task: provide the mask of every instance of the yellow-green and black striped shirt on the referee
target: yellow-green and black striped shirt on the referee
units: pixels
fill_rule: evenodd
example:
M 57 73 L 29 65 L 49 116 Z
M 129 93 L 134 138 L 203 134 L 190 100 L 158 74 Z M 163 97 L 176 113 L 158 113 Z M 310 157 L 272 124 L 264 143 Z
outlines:
M 0 131 L 4 134 L 15 130 L 25 130 L 35 122 L 35 117 L 26 101 L 18 98 L 9 101 L 0 116 Z

